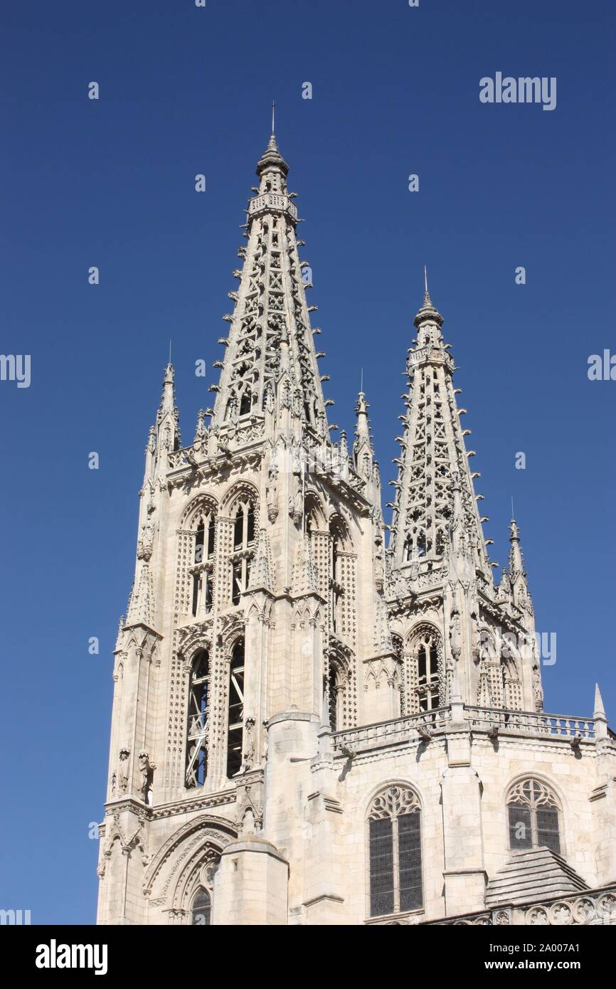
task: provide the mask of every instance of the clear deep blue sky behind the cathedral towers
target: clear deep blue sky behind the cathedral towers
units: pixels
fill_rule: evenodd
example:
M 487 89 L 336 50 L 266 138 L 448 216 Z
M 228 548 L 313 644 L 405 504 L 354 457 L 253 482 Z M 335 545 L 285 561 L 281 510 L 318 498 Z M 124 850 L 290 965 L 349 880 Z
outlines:
M 7 0 L 1 21 L 0 352 L 32 355 L 32 385 L 0 382 L 0 906 L 94 919 L 87 829 L 102 817 L 147 430 L 169 337 L 185 441 L 210 404 L 194 363 L 220 356 L 274 98 L 330 421 L 352 428 L 363 365 L 394 476 L 425 262 L 492 559 L 506 562 L 513 494 L 538 629 L 558 636 L 546 707 L 591 713 L 599 679 L 616 718 L 616 382 L 586 376 L 589 354 L 616 351 L 613 5 Z M 482 105 L 479 80 L 497 70 L 557 76 L 557 109 Z

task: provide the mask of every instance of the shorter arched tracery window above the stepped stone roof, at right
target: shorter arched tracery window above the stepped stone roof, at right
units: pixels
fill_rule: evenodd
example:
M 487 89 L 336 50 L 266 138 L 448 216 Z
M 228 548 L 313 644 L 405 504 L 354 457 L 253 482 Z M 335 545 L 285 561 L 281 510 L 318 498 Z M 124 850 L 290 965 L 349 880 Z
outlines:
M 514 852 L 545 845 L 561 852 L 560 808 L 554 793 L 538 779 L 523 779 L 507 794 L 509 847 Z

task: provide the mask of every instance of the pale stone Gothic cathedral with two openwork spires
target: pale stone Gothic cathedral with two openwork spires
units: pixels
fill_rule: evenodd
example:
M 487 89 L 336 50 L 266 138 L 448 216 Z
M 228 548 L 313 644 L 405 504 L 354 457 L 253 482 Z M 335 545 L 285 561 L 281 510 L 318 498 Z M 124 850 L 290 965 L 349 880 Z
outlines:
M 616 740 L 544 711 L 520 532 L 494 581 L 427 285 L 382 511 L 328 422 L 298 209 L 257 164 L 213 407 L 174 372 L 115 650 L 99 924 L 616 921 Z

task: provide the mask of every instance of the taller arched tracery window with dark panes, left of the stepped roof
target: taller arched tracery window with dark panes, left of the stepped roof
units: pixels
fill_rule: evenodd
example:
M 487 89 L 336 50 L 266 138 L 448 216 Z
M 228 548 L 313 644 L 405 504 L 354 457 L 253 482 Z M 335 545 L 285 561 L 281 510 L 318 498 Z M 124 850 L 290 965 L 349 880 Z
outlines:
M 370 916 L 423 906 L 421 809 L 416 793 L 390 786 L 368 812 Z

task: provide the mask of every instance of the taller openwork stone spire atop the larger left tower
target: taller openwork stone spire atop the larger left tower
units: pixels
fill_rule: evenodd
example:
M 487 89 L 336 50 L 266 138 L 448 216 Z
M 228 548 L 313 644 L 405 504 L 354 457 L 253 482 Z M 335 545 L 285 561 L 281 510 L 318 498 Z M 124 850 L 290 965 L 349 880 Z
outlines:
M 302 429 L 323 440 L 327 420 L 309 317 L 316 307 L 306 300 L 309 266 L 298 255 L 298 209 L 296 194 L 287 189 L 288 171 L 272 133 L 246 211 L 248 242 L 238 251 L 243 267 L 234 272 L 237 291 L 229 292 L 234 309 L 224 316 L 230 325 L 228 337 L 220 340 L 223 361 L 215 365 L 220 382 L 211 386 L 217 393 L 213 424 L 258 426 L 268 404 L 270 410 L 276 405 L 276 414 L 291 408 Z

